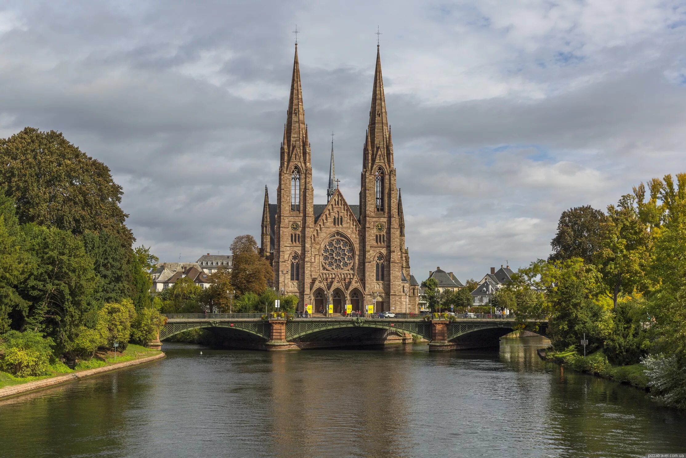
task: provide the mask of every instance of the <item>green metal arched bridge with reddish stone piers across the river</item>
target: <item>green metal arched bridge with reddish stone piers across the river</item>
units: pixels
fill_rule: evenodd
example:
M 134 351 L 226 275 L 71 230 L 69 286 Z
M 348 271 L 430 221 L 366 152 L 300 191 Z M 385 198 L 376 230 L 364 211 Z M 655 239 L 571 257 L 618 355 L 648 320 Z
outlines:
M 296 317 L 285 320 L 260 313 L 169 314 L 151 346 L 186 330 L 206 328 L 217 341 L 235 348 L 261 350 L 297 350 L 365 346 L 385 343 L 427 341 L 429 351 L 493 348 L 500 337 L 511 333 L 521 323 L 515 317 L 476 315 L 454 320 L 425 320 L 424 315 L 386 318 L 376 314 L 344 317 Z M 269 315 L 271 316 L 271 315 Z M 528 330 L 546 336 L 547 320 L 527 320 Z M 530 328 L 530 329 L 529 329 Z

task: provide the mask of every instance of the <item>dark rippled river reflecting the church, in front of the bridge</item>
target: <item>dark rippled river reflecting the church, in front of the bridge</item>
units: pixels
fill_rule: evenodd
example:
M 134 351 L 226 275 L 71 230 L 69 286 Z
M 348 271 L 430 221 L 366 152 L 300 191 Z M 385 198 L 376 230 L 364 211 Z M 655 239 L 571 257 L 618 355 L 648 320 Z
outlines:
M 0 457 L 686 453 L 686 415 L 541 361 L 546 344 L 279 353 L 168 343 L 161 361 L 0 401 Z

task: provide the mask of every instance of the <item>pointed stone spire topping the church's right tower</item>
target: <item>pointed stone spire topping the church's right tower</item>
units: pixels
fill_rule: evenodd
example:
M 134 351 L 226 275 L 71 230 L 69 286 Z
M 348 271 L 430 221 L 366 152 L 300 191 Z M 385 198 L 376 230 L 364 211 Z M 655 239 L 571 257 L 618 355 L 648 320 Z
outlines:
M 388 115 L 386 115 L 386 97 L 383 95 L 383 77 L 381 76 L 381 54 L 377 45 L 377 67 L 374 71 L 374 86 L 372 88 L 372 106 L 369 111 L 367 148 L 371 158 L 365 154 L 365 162 L 392 162 L 392 145 L 388 132 Z M 365 163 L 365 165 L 368 165 Z M 392 164 L 390 164 L 392 166 Z

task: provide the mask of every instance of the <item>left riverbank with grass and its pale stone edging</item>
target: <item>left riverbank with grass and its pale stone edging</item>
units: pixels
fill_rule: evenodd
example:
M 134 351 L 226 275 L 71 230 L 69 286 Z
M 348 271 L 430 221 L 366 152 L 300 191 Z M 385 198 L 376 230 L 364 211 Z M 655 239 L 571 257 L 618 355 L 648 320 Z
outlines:
M 125 367 L 156 361 L 164 357 L 165 354 L 161 350 L 152 350 L 151 348 L 130 344 L 121 356 L 81 361 L 75 370 L 71 370 L 66 365 L 60 363 L 53 366 L 53 374 L 45 376 L 20 378 L 6 372 L 0 372 L 0 399 L 23 394 L 27 391 L 77 381 L 82 378 L 103 374 L 104 372 L 112 372 Z

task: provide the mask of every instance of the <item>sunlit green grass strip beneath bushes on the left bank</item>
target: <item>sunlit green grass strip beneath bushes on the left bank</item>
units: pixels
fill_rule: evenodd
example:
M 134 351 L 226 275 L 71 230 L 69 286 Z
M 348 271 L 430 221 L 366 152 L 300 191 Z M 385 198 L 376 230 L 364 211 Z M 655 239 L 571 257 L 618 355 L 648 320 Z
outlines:
M 91 359 L 84 359 L 78 361 L 78 363 L 75 365 L 73 369 L 69 368 L 66 364 L 58 361 L 57 363 L 50 365 L 47 370 L 47 373 L 42 376 L 16 377 L 12 374 L 8 374 L 8 372 L 0 371 L 0 388 L 21 385 L 23 383 L 29 383 L 38 380 L 44 380 L 45 378 L 73 374 L 74 372 L 80 372 L 82 370 L 96 369 L 97 367 L 104 367 L 117 363 L 125 363 L 126 361 L 133 361 L 134 359 L 152 357 L 160 353 L 161 350 L 153 350 L 152 348 L 145 348 L 140 345 L 134 345 L 133 343 L 129 343 L 128 347 L 126 347 L 126 350 L 124 350 L 123 352 L 117 352 L 116 358 L 114 352 L 98 352 L 95 355 L 95 357 Z

